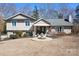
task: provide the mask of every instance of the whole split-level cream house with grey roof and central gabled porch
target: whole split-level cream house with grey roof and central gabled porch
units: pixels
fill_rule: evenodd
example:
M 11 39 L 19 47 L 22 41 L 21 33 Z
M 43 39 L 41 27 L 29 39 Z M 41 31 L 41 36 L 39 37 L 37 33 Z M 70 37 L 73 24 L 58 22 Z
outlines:
M 59 33 L 64 32 L 70 34 L 73 24 L 71 22 L 64 21 L 64 19 L 39 19 L 18 13 L 6 20 L 6 30 L 8 36 L 15 31 L 34 32 L 36 34 L 46 33 L 48 29 Z

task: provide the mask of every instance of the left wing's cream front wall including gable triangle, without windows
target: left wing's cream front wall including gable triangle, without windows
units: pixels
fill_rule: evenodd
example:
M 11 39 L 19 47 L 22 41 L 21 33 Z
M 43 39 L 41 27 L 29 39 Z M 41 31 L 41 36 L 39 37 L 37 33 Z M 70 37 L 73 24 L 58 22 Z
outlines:
M 16 20 L 16 26 L 12 25 L 13 20 Z M 30 26 L 26 26 L 25 20 L 30 21 Z M 13 17 L 10 21 L 7 21 L 6 30 L 7 31 L 17 31 L 17 30 L 28 31 L 31 28 L 32 24 L 33 24 L 33 21 L 31 21 L 31 19 L 24 17 L 22 15 L 17 15 L 16 17 Z

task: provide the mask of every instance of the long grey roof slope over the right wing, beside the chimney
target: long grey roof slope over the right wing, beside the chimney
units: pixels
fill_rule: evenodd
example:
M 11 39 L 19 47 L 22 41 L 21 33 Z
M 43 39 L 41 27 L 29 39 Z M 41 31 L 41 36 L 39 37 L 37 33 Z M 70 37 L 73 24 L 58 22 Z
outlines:
M 72 23 L 64 21 L 64 19 L 46 19 L 52 26 L 73 26 Z

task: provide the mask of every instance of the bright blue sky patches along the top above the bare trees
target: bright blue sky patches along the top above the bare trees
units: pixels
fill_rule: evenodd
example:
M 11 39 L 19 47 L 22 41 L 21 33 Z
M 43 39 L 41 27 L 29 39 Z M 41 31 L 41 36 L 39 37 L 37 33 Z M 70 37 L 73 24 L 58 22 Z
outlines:
M 62 3 L 50 3 L 50 4 L 51 4 L 51 8 L 58 9 L 59 4 L 62 4 Z M 23 6 L 31 7 L 31 8 L 34 8 L 34 6 L 37 6 L 38 8 L 45 8 L 44 5 L 45 3 L 41 3 L 41 4 L 40 3 L 16 3 L 17 8 L 22 8 Z M 68 8 L 75 9 L 78 3 L 66 3 L 66 5 Z

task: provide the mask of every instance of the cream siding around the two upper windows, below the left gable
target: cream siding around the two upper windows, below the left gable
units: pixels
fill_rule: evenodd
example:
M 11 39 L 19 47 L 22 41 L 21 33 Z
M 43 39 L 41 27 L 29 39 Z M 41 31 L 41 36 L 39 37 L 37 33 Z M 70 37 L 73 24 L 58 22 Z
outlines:
M 7 22 L 6 24 L 6 30 L 25 30 L 28 31 L 31 26 L 32 26 L 32 22 L 30 22 L 30 26 L 26 26 L 25 22 L 16 22 L 16 26 L 12 26 L 12 22 Z

